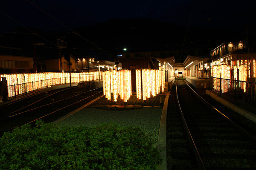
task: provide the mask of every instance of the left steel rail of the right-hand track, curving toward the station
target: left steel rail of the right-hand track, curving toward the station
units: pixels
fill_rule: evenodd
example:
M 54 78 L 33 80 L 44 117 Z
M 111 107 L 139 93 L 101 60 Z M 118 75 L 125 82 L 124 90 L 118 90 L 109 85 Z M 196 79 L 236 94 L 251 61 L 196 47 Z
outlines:
M 200 170 L 205 170 L 204 164 L 203 164 L 202 159 L 201 159 L 201 157 L 200 157 L 200 155 L 199 155 L 199 153 L 198 153 L 198 150 L 197 150 L 197 148 L 196 148 L 196 146 L 195 146 L 195 142 L 194 142 L 194 140 L 193 140 L 193 138 L 192 138 L 192 135 L 191 135 L 191 133 L 190 133 L 189 127 L 188 127 L 188 125 L 187 125 L 187 123 L 186 123 L 186 120 L 185 120 L 185 118 L 184 118 L 184 116 L 183 116 L 183 112 L 182 112 L 182 109 L 181 109 L 181 107 L 180 107 L 180 102 L 179 102 L 179 98 L 178 98 L 177 87 L 178 87 L 178 81 L 177 81 L 177 83 L 176 83 L 176 100 L 177 100 L 178 109 L 179 109 L 179 111 L 180 111 L 180 115 L 181 115 L 181 117 L 182 117 L 182 122 L 183 122 L 183 124 L 184 124 L 184 126 L 185 126 L 185 131 L 186 131 L 187 137 L 188 137 L 188 139 L 189 139 L 190 147 L 191 147 L 191 149 L 193 150 L 193 153 L 195 154 L 195 158 L 196 158 L 197 163 L 198 163 L 198 168 L 199 168 Z

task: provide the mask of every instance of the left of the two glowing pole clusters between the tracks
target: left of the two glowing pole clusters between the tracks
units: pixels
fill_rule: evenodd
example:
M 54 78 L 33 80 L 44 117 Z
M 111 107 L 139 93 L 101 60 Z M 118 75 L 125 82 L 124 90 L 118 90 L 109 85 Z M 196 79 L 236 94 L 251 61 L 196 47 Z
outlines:
M 127 102 L 131 97 L 131 70 L 104 71 L 102 72 L 103 94 L 108 100 L 117 102 L 118 95 L 121 100 Z

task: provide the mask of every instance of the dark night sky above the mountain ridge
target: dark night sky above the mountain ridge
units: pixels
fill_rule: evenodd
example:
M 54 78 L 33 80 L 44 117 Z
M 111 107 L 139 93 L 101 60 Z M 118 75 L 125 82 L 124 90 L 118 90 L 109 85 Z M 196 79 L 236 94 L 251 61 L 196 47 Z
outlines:
M 106 22 L 112 18 L 147 18 L 186 26 L 253 29 L 254 0 L 30 0 L 72 29 Z M 27 0 L 5 0 L 0 10 L 29 28 L 65 31 L 64 26 Z M 0 12 L 0 31 L 20 26 Z

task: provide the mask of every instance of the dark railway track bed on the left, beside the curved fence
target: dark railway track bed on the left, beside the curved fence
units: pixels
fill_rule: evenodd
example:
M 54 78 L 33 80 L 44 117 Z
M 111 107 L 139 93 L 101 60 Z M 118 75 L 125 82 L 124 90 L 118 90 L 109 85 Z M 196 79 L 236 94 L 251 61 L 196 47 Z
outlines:
M 52 122 L 90 100 L 101 96 L 102 93 L 102 88 L 95 88 L 71 96 L 68 96 L 66 92 L 55 94 L 54 100 L 42 100 L 29 107 L 9 112 L 0 119 L 0 134 L 21 125 L 33 124 L 38 119 L 42 119 L 44 122 Z

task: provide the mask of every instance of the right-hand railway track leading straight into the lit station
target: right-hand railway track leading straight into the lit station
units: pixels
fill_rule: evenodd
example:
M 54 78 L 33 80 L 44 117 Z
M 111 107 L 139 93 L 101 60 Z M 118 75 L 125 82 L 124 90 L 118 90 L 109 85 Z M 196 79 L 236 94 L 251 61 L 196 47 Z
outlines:
M 178 80 L 176 92 L 179 105 L 167 118 L 173 124 L 167 127 L 172 170 L 256 169 L 255 136 L 202 101 L 183 80 Z

